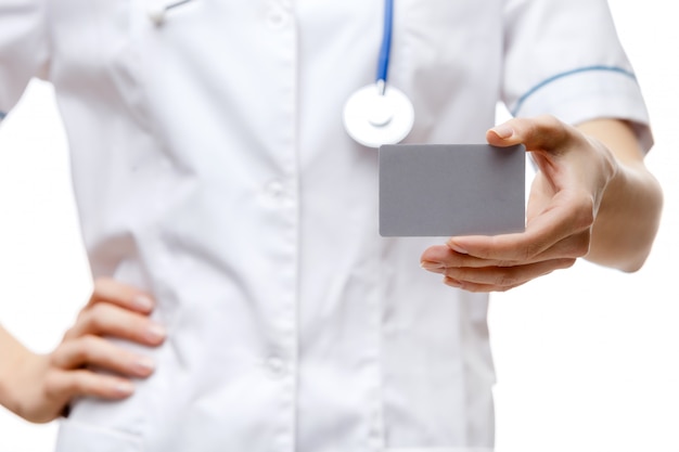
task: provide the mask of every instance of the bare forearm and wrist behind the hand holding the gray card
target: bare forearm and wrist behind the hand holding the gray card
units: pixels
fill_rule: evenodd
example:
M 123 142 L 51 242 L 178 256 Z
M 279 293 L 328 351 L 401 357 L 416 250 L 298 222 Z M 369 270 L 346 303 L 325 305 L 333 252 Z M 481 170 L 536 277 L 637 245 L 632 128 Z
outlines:
M 646 170 L 631 128 L 622 121 L 592 121 L 580 127 L 615 155 L 616 171 L 599 207 L 587 259 L 623 271 L 645 261 L 663 205 L 658 182 Z

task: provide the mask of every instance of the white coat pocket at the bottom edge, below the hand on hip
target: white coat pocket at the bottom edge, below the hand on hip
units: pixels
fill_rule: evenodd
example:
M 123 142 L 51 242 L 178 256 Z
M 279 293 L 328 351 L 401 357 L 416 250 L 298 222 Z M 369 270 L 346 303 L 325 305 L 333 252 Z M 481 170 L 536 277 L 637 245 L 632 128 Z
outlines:
M 143 452 L 140 437 L 78 421 L 63 419 L 55 452 Z

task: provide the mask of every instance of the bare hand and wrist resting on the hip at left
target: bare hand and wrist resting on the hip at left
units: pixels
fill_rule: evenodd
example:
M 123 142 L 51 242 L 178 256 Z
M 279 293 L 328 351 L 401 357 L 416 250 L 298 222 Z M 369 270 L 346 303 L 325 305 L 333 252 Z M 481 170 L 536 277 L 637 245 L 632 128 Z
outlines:
M 0 404 L 29 422 L 47 423 L 76 397 L 131 396 L 131 378 L 149 377 L 154 363 L 105 337 L 159 346 L 166 333 L 149 319 L 153 308 L 149 294 L 102 279 L 94 282 L 88 304 L 49 354 L 30 352 L 0 326 Z M 92 366 L 116 376 L 92 372 Z

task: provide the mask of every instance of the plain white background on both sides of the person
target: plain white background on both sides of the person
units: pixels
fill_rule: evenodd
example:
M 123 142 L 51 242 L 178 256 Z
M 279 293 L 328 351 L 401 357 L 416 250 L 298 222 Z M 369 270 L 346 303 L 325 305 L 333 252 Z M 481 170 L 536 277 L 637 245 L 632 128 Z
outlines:
M 654 125 L 664 221 L 638 273 L 579 262 L 492 296 L 498 452 L 679 451 L 679 27 L 672 2 L 610 3 Z M 33 83 L 0 132 L 0 322 L 35 351 L 89 294 L 78 234 L 51 88 Z M 55 432 L 0 409 L 0 452 L 51 451 Z

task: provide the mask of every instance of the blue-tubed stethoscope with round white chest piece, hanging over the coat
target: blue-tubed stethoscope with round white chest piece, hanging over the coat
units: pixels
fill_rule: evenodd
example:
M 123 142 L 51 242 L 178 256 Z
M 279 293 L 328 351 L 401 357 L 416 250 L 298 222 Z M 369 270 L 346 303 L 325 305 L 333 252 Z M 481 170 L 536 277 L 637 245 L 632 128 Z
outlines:
M 192 0 L 178 0 L 149 11 L 157 26 L 163 25 L 167 13 Z M 392 33 L 394 29 L 394 0 L 384 2 L 384 34 L 377 59 L 377 76 L 373 85 L 356 91 L 344 105 L 344 128 L 349 137 L 368 147 L 395 144 L 412 130 L 414 108 L 410 99 L 397 88 L 387 85 Z

